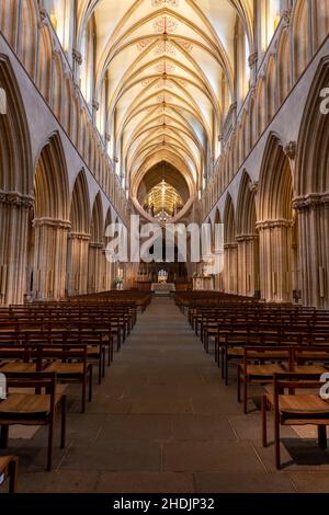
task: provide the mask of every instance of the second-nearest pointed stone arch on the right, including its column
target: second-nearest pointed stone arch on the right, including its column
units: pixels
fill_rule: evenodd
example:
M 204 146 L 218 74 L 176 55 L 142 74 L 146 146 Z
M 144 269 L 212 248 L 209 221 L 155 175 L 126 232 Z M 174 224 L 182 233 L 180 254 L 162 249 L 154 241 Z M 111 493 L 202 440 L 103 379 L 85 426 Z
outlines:
M 270 135 L 260 174 L 257 224 L 260 233 L 261 293 L 266 300 L 291 301 L 293 298 L 292 201 L 290 160 L 280 139 Z

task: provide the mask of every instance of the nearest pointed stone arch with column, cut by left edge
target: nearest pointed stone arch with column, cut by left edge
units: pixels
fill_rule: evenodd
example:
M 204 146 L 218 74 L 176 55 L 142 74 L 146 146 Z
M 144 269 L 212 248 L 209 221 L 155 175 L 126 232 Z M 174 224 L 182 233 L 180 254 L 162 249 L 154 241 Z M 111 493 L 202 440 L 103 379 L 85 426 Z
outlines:
M 7 104 L 7 114 L 0 114 L 0 305 L 7 305 L 22 302 L 26 291 L 33 165 L 23 101 L 10 62 L 2 55 L 0 88 Z

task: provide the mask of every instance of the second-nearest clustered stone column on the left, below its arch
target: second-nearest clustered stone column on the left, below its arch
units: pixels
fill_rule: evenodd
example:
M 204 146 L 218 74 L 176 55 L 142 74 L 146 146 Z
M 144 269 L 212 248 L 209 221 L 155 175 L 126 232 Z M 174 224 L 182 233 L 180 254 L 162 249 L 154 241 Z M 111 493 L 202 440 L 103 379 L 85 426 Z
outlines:
M 67 236 L 70 222 L 35 218 L 33 290 L 39 299 L 60 299 L 66 295 Z

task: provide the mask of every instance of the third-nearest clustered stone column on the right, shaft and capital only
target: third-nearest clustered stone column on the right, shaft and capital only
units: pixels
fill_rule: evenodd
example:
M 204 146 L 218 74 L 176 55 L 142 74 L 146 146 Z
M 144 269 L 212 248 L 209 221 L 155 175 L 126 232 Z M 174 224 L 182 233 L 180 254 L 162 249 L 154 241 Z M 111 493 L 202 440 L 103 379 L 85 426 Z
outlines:
M 253 297 L 259 290 L 259 239 L 258 234 L 240 234 L 238 242 L 239 294 Z

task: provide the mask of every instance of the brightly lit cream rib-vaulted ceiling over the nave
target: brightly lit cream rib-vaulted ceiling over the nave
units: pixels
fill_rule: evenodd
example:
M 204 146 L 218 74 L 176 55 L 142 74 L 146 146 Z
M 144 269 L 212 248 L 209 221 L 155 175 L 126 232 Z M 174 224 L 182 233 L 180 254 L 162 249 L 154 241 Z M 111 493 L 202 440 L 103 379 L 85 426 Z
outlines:
M 235 26 L 252 52 L 252 0 L 78 0 L 78 36 L 97 36 L 95 99 L 106 88 L 116 171 L 166 160 L 202 190 L 234 98 Z

